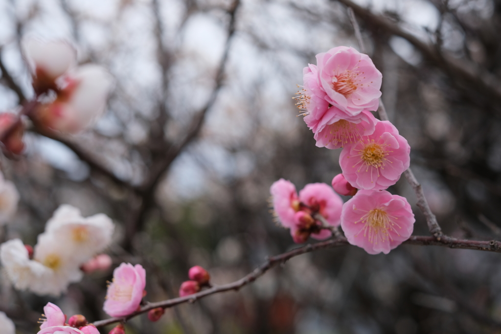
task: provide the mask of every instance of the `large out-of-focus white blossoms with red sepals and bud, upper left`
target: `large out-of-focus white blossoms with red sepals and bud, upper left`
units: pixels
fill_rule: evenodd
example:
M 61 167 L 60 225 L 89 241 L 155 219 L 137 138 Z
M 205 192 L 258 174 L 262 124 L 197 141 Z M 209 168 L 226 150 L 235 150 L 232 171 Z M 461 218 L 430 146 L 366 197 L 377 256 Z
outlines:
M 113 85 L 104 68 L 76 66 L 76 50 L 64 41 L 24 40 L 23 56 L 32 74 L 35 98 L 21 114 L 39 129 L 78 133 L 102 115 Z M 8 152 L 23 151 L 24 128 L 16 114 L 0 114 L 0 141 Z

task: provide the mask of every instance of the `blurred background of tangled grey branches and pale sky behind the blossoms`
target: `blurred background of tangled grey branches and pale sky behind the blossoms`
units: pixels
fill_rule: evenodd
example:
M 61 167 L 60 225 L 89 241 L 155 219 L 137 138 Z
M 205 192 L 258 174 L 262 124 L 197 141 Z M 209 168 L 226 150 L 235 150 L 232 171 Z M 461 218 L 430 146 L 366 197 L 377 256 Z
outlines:
M 69 40 L 80 63 L 100 64 L 116 79 L 92 131 L 56 140 L 28 131 L 23 155 L 0 159 L 21 193 L 1 241 L 35 244 L 63 203 L 84 216 L 104 212 L 117 225 L 108 250 L 114 266 L 143 264 L 149 301 L 177 296 L 192 265 L 222 284 L 295 247 L 269 212 L 269 188 L 282 177 L 299 190 L 341 172 L 340 150 L 315 146 L 291 97 L 317 53 L 358 48 L 347 4 L 0 0 L 0 110 L 34 96 L 24 37 Z M 356 5 L 390 120 L 411 145 L 411 166 L 442 228 L 499 238 L 501 1 Z M 427 235 L 406 181 L 389 190 L 408 198 L 414 234 Z M 156 323 L 136 317 L 127 333 L 497 333 L 500 260 L 430 246 L 389 255 L 323 250 L 236 293 L 169 309 Z M 37 331 L 48 301 L 69 315 L 106 318 L 111 272 L 87 275 L 60 298 L 16 291 L 0 276 L 0 310 L 19 333 Z

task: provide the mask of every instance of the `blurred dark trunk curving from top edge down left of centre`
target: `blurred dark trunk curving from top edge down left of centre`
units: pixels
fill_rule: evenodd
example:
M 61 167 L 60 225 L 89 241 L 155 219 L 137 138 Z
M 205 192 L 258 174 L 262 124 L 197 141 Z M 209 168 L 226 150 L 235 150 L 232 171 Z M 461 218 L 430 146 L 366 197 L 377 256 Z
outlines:
M 207 101 L 206 105 L 193 117 L 190 125 L 187 127 L 186 136 L 178 143 L 174 143 L 172 146 L 170 146 L 167 152 L 165 152 L 165 154 L 163 155 L 162 159 L 152 165 L 149 177 L 147 178 L 146 182 L 139 188 L 139 192 L 143 195 L 142 203 L 138 214 L 135 216 L 135 218 L 132 219 L 132 222 L 129 224 L 129 227 L 127 229 L 126 240 L 124 244 L 124 247 L 126 249 L 130 247 L 130 242 L 132 241 L 133 235 L 139 229 L 141 229 L 141 225 L 144 223 L 145 216 L 149 208 L 154 205 L 155 189 L 158 185 L 158 182 L 162 179 L 165 172 L 169 169 L 170 165 L 177 158 L 177 156 L 179 156 L 179 154 L 188 146 L 188 144 L 190 144 L 195 138 L 198 137 L 198 134 L 205 120 L 205 115 L 212 108 L 217 96 L 219 95 L 221 87 L 223 86 L 224 70 L 228 59 L 231 40 L 235 32 L 236 12 L 239 5 L 240 0 L 235 0 L 228 10 L 228 14 L 230 16 L 228 25 L 228 37 L 226 39 L 223 56 L 221 58 L 221 61 L 219 62 L 219 67 L 217 69 L 215 77 L 215 87 L 212 90 L 209 100 Z

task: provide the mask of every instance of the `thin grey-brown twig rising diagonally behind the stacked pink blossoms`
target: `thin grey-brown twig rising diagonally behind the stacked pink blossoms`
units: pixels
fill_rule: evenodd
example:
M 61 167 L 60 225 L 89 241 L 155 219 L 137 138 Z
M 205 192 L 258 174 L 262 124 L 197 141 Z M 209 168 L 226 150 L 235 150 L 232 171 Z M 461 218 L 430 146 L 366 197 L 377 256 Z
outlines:
M 344 0 L 343 0 L 344 1 Z M 355 36 L 358 41 L 358 45 L 360 46 L 360 50 L 365 50 L 365 45 L 364 41 L 362 40 L 362 34 L 360 33 L 360 28 L 357 23 L 357 19 L 355 18 L 355 15 L 353 14 L 353 10 L 348 8 L 348 13 L 350 15 L 350 20 L 353 25 L 353 29 L 355 30 Z M 388 114 L 386 113 L 386 108 L 384 107 L 383 104 L 383 99 L 379 98 L 379 108 L 378 108 L 378 113 L 379 113 L 379 118 L 382 121 L 389 121 Z M 426 223 L 428 224 L 428 230 L 430 233 L 437 238 L 437 240 L 440 240 L 441 238 L 445 238 L 450 240 L 449 236 L 446 236 L 442 233 L 442 229 L 440 228 L 440 225 L 438 225 L 437 218 L 431 212 L 430 206 L 428 205 L 428 202 L 426 201 L 426 197 L 424 197 L 424 192 L 423 192 L 423 187 L 421 184 L 417 181 L 416 177 L 414 176 L 414 173 L 412 173 L 412 170 L 410 167 L 404 171 L 404 176 L 407 179 L 407 182 L 409 182 L 410 186 L 414 190 L 414 193 L 416 194 L 417 197 L 417 203 L 416 205 L 419 207 L 421 212 L 424 214 L 424 217 L 426 219 Z

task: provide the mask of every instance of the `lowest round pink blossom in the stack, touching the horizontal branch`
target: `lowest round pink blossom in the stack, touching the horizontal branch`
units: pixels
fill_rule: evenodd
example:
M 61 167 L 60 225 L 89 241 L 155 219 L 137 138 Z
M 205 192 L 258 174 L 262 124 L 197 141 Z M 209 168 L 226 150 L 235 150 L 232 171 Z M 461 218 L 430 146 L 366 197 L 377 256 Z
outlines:
M 369 254 L 388 254 L 410 237 L 414 222 L 407 200 L 386 190 L 359 190 L 341 214 L 348 242 Z

